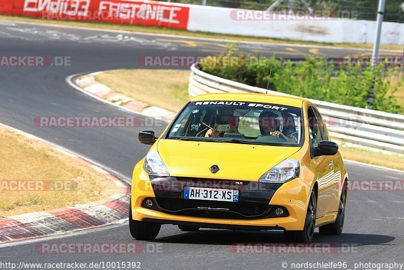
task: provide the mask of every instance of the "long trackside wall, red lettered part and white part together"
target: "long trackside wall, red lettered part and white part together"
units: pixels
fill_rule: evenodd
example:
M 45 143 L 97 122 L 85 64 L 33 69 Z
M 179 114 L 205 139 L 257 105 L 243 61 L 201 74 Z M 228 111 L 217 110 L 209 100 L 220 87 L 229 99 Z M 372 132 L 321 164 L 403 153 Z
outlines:
M 286 12 L 274 13 L 149 0 L 86 0 L 82 1 L 78 10 L 55 9 L 53 5 L 59 2 L 0 0 L 2 3 L 0 14 L 105 20 L 110 23 L 144 24 L 190 31 L 335 43 L 373 43 L 376 33 L 376 21 L 331 18 L 332 11 L 327 10 L 316 10 L 313 16 L 299 12 L 292 15 Z M 103 16 L 91 16 L 97 12 L 103 12 Z M 397 10 L 397 13 L 399 12 L 401 11 Z M 115 16 L 111 18 L 104 16 L 107 13 L 117 15 L 119 19 L 114 18 Z M 383 22 L 381 43 L 403 44 L 404 23 Z

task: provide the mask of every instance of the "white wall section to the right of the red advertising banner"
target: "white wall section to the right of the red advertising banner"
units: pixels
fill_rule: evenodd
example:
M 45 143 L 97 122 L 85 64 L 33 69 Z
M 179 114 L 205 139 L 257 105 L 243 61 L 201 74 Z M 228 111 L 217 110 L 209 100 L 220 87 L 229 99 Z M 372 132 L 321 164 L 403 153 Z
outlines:
M 251 19 L 247 16 L 248 11 L 196 5 L 189 7 L 187 30 L 190 31 L 335 43 L 373 43 L 376 33 L 376 21 L 306 20 L 282 17 L 260 19 L 261 14 L 258 18 L 255 16 L 256 18 Z M 245 13 L 245 16 L 237 17 L 237 12 L 242 15 Z M 404 23 L 383 22 L 381 43 L 404 43 Z

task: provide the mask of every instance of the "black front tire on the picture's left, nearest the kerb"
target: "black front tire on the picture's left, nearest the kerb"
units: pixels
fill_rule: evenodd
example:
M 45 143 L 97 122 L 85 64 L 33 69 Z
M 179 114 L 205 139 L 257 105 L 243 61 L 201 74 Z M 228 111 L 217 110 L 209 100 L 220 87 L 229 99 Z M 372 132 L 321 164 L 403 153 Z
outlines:
M 138 221 L 132 218 L 132 203 L 129 203 L 129 231 L 137 240 L 154 240 L 160 232 L 161 224 Z

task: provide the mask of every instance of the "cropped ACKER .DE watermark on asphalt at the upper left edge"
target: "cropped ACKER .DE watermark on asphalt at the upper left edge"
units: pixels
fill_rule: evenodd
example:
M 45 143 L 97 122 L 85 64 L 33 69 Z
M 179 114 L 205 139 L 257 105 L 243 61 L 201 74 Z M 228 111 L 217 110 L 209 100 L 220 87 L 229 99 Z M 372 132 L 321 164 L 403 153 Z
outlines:
M 1 67 L 61 67 L 71 65 L 70 56 L 0 56 Z

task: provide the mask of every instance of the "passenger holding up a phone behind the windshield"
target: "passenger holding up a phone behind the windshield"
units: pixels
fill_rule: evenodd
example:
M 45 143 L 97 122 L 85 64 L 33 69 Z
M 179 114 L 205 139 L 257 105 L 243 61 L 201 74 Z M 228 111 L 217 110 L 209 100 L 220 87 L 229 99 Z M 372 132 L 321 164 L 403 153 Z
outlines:
M 215 122 L 213 129 L 209 129 L 205 137 L 223 137 L 224 133 L 239 133 L 233 108 L 224 107 L 216 110 Z M 219 131 L 218 128 L 220 125 L 230 125 L 230 130 Z

